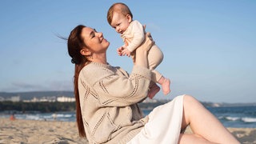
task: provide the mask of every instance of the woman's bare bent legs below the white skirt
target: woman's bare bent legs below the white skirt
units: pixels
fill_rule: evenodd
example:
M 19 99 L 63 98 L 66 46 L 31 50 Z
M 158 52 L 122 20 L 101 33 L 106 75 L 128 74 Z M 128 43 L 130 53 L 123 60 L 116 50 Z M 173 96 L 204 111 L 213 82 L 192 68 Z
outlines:
M 190 125 L 194 134 L 181 134 L 179 142 L 239 143 L 232 134 L 195 98 L 184 96 L 182 129 Z

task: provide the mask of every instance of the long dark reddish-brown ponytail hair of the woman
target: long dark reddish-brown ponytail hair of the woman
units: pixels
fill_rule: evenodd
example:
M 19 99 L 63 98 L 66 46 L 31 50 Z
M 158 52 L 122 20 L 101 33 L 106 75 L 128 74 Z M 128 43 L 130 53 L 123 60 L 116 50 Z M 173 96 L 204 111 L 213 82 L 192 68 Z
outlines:
M 86 137 L 86 132 L 82 122 L 82 114 L 79 100 L 78 92 L 78 75 L 82 68 L 85 66 L 86 62 L 89 62 L 85 56 L 83 56 L 80 51 L 86 46 L 82 38 L 82 29 L 86 26 L 76 26 L 74 30 L 70 32 L 70 36 L 67 40 L 67 48 L 72 58 L 71 62 L 75 64 L 74 66 L 74 96 L 76 99 L 76 117 L 78 124 L 78 132 L 80 137 Z

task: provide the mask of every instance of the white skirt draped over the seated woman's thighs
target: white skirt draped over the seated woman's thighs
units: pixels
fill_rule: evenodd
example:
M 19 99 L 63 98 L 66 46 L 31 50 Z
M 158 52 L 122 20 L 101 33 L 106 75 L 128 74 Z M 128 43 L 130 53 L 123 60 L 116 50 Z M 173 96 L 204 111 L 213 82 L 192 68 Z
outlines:
M 181 133 L 183 96 L 180 95 L 149 114 L 149 122 L 127 144 L 174 144 Z

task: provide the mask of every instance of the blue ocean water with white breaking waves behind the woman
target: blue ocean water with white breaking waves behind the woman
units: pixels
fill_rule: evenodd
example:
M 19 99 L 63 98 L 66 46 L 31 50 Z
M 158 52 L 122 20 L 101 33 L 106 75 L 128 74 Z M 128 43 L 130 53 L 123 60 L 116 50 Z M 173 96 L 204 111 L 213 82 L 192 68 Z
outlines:
M 207 107 L 226 127 L 256 128 L 256 106 Z M 151 110 L 143 110 L 145 115 Z M 9 118 L 10 111 L 0 112 L 0 118 Z M 55 117 L 55 118 L 54 118 Z M 42 121 L 75 122 L 74 112 L 22 114 L 16 111 L 15 118 Z

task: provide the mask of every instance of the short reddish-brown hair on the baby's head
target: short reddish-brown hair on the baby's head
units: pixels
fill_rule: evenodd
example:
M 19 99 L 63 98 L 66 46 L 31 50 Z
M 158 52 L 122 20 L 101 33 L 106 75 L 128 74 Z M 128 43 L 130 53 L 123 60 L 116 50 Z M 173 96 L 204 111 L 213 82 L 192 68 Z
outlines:
M 129 14 L 131 18 L 133 18 L 133 14 L 131 13 L 130 9 L 128 6 L 126 6 L 126 4 L 122 3 L 122 2 L 117 2 L 114 3 L 112 6 L 110 6 L 110 9 L 107 11 L 107 22 L 109 22 L 109 24 L 111 25 L 112 22 L 112 18 L 113 18 L 113 13 L 117 12 L 119 14 L 123 14 L 123 15 L 127 15 Z

